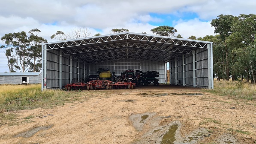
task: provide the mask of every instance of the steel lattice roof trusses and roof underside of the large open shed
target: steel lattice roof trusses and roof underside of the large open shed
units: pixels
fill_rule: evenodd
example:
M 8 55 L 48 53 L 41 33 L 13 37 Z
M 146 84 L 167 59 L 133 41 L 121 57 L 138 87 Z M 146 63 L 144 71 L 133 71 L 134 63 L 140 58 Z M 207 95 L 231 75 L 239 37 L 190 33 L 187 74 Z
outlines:
M 47 50 L 60 50 L 62 55 L 72 55 L 73 59 L 87 63 L 124 58 L 167 62 L 172 58 L 182 58 L 183 54 L 192 55 L 195 48 L 207 48 L 207 43 L 203 41 L 130 32 L 45 45 Z

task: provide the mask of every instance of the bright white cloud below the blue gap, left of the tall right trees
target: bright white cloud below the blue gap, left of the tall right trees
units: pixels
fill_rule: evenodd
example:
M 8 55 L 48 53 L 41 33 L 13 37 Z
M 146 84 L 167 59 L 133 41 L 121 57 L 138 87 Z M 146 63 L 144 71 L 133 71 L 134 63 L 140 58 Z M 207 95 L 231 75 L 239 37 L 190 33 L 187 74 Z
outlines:
M 205 37 L 206 35 L 214 34 L 214 27 L 211 27 L 211 21 L 202 22 L 199 19 L 193 19 L 188 21 L 178 21 L 174 27 L 178 30 L 177 34 L 180 34 L 183 38 L 188 38 L 191 35 L 198 37 Z

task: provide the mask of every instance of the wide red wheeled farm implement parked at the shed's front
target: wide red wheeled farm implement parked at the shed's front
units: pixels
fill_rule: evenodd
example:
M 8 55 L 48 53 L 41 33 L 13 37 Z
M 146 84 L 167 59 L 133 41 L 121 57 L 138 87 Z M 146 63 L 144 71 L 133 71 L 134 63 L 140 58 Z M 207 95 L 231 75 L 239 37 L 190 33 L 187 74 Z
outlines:
M 66 90 L 71 89 L 135 89 L 136 84 L 132 82 L 116 82 L 108 80 L 95 80 L 89 81 L 87 83 L 81 82 L 76 84 L 67 84 L 65 86 Z

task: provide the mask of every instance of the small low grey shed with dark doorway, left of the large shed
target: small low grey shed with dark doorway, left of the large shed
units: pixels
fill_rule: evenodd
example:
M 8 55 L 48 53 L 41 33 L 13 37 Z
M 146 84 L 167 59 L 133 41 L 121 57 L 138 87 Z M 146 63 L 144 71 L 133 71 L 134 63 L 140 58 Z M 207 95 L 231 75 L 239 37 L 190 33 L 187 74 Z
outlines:
M 0 84 L 39 84 L 41 72 L 0 72 Z

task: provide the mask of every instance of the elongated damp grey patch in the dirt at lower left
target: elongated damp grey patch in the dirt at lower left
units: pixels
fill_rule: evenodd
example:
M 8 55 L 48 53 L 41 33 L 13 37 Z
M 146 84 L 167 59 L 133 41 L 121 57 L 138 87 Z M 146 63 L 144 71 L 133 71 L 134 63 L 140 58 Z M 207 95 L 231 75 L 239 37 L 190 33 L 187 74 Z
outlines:
M 53 125 L 33 127 L 32 129 L 30 129 L 26 132 L 21 132 L 18 135 L 15 135 L 14 137 L 15 138 L 18 138 L 18 137 L 29 138 L 29 137 L 33 136 L 34 134 L 36 134 L 36 132 L 39 132 L 40 130 L 48 130 L 51 127 L 53 127 Z

